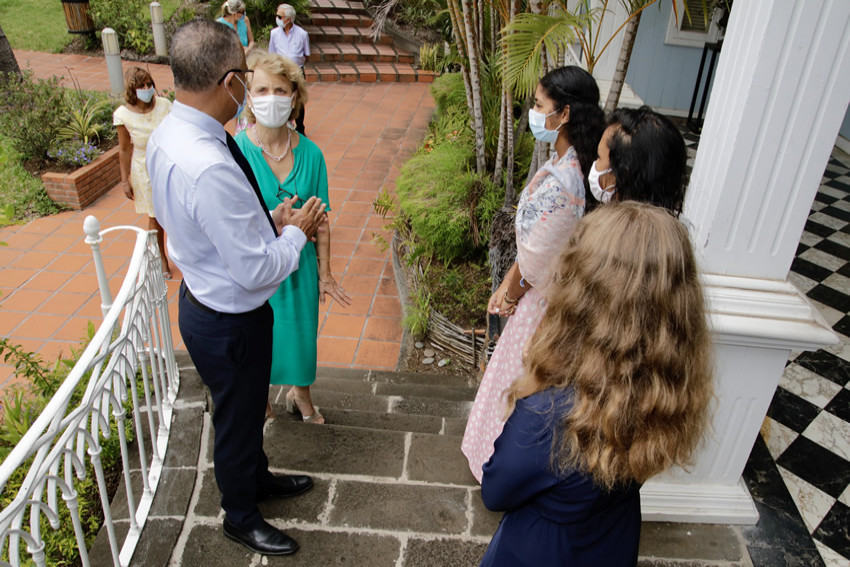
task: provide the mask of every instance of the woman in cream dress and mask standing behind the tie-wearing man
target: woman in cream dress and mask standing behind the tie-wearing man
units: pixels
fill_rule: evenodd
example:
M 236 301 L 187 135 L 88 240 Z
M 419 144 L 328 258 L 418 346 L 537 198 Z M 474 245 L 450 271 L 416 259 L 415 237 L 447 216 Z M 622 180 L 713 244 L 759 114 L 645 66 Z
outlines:
M 136 212 L 148 215 L 148 229 L 156 231 L 163 276 L 171 279 L 171 268 L 165 254 L 165 231 L 159 226 L 153 212 L 153 194 L 145 153 L 148 138 L 171 112 L 171 101 L 156 96 L 153 77 L 141 67 L 127 69 L 124 84 L 124 104 L 112 114 L 112 123 L 118 131 L 121 187 L 127 198 L 135 204 Z

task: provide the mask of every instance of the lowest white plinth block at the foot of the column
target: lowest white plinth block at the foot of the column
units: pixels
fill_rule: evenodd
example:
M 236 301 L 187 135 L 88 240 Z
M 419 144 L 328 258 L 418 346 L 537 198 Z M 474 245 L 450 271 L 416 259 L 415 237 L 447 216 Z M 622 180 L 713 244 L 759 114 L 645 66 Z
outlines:
M 743 480 L 733 486 L 650 479 L 640 490 L 645 522 L 755 524 L 758 512 Z

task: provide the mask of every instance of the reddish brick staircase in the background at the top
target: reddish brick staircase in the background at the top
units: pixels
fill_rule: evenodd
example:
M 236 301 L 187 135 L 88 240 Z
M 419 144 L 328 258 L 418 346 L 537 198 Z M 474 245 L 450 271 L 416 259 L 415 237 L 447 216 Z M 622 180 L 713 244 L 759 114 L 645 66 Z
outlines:
M 310 57 L 304 65 L 308 82 L 427 82 L 436 76 L 414 65 L 414 54 L 394 45 L 383 34 L 376 43 L 369 27 L 372 18 L 362 2 L 312 0 Z

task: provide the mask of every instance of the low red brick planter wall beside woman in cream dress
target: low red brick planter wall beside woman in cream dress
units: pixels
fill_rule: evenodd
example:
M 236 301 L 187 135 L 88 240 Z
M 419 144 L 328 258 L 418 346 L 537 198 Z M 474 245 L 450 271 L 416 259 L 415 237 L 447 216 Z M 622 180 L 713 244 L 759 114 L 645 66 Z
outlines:
M 121 181 L 118 146 L 72 173 L 41 176 L 50 198 L 75 210 L 84 209 Z

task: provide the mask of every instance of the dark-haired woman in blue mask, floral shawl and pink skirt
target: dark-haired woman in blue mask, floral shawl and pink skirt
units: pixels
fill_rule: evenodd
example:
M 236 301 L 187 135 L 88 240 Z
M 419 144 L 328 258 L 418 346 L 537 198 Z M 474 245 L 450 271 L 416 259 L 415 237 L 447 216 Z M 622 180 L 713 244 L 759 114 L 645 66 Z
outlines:
M 461 447 L 479 481 L 504 424 L 504 393 L 522 375 L 522 348 L 546 310 L 539 290 L 584 214 L 585 178 L 605 127 L 596 81 L 580 67 L 549 72 L 537 85 L 528 124 L 555 153 L 520 194 L 517 260 L 487 305 L 489 313 L 511 318 L 478 387 Z

